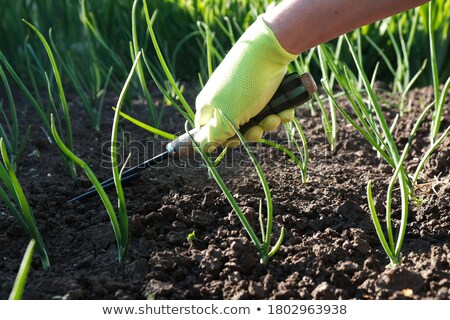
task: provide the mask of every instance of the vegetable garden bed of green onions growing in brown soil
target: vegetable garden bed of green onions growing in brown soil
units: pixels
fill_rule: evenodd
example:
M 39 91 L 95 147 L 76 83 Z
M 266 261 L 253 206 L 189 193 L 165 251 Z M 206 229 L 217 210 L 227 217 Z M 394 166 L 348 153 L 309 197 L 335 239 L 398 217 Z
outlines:
M 2 298 L 449 297 L 448 2 L 299 56 L 319 91 L 258 143 L 129 183 L 273 4 L 103 2 L 2 10 Z

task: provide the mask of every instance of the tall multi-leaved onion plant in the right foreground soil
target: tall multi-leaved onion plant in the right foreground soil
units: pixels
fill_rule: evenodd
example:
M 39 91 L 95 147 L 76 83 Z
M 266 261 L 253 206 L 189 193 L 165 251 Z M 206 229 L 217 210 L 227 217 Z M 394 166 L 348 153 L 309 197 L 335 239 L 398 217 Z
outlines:
M 328 83 L 325 80 L 322 80 L 322 85 L 327 92 L 327 94 L 331 97 L 334 105 L 340 111 L 340 113 L 355 127 L 355 129 L 360 132 L 364 138 L 380 153 L 380 155 L 392 166 L 395 170 L 391 182 L 388 188 L 387 201 L 386 201 L 386 232 L 388 234 L 388 241 L 386 241 L 383 231 L 380 227 L 380 223 L 378 221 L 377 213 L 375 210 L 375 206 L 373 204 L 372 197 L 372 183 L 369 182 L 367 187 L 368 201 L 369 207 L 372 214 L 372 218 L 375 224 L 375 229 L 377 231 L 378 237 L 384 250 L 386 251 L 391 264 L 400 263 L 400 254 L 401 247 L 403 244 L 403 239 L 406 234 L 406 226 L 408 219 L 408 200 L 409 198 L 414 198 L 414 184 L 417 181 L 417 177 L 423 168 L 423 163 L 429 158 L 431 153 L 437 148 L 438 144 L 433 144 L 432 147 L 426 152 L 420 161 L 419 166 L 416 169 L 414 177 L 411 178 L 404 166 L 403 162 L 405 158 L 409 154 L 409 150 L 411 148 L 412 141 L 414 136 L 419 129 L 419 126 L 423 122 L 427 112 L 432 107 L 432 104 L 429 105 L 422 112 L 420 117 L 417 119 L 413 130 L 410 133 L 407 144 L 404 147 L 402 154 L 400 155 L 398 147 L 395 143 L 392 126 L 388 125 L 386 118 L 383 115 L 381 110 L 381 106 L 377 101 L 376 94 L 372 88 L 372 83 L 369 81 L 360 60 L 357 58 L 355 51 L 353 49 L 352 44 L 345 37 L 347 45 L 349 47 L 350 53 L 353 56 L 353 60 L 357 67 L 359 74 L 362 77 L 362 81 L 364 83 L 364 88 L 368 96 L 369 103 L 366 104 L 365 100 L 360 91 L 356 89 L 356 77 L 353 76 L 351 71 L 349 71 L 346 66 L 342 66 L 336 63 L 330 56 L 329 53 L 325 52 L 325 57 L 327 59 L 327 63 L 330 68 L 333 70 L 333 73 L 336 76 L 339 84 L 343 88 L 344 92 L 347 95 L 347 98 L 350 102 L 350 105 L 353 111 L 356 114 L 356 117 L 359 121 L 353 119 L 337 102 L 332 89 L 328 86 Z M 447 130 L 444 134 L 448 134 L 450 131 Z M 439 139 L 439 143 L 443 140 L 444 134 L 442 135 L 442 139 Z M 398 231 L 397 240 L 394 241 L 393 237 L 393 228 L 392 228 L 392 192 L 393 187 L 396 181 L 399 181 L 399 187 L 401 191 L 401 202 L 402 202 L 402 214 L 400 221 L 400 228 Z

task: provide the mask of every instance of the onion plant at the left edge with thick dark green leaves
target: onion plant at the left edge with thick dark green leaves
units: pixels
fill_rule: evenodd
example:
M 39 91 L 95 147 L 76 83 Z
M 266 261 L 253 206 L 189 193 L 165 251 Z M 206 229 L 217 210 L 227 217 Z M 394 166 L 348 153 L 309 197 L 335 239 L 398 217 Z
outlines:
M 42 266 L 44 269 L 47 269 L 50 267 L 50 261 L 44 242 L 37 228 L 31 207 L 9 160 L 3 138 L 0 138 L 0 154 L 2 158 L 0 162 L 0 181 L 3 183 L 3 186 L 0 184 L 0 198 L 30 238 L 36 240 Z

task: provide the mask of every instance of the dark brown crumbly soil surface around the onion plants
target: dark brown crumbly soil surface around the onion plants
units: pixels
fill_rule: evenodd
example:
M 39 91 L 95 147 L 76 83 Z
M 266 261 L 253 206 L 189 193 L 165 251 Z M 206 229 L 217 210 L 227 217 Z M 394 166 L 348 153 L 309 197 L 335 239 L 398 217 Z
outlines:
M 411 112 L 396 130 L 404 145 L 431 89 L 411 92 Z M 100 179 L 110 176 L 107 142 L 112 112 L 105 111 L 101 132 L 91 129 L 72 99 L 76 153 Z M 380 100 L 392 119 L 399 98 Z M 111 98 L 108 108 L 113 106 Z M 128 111 L 146 121 L 146 107 L 134 101 Z M 166 112 L 164 129 L 177 132 L 183 121 Z M 66 204 L 90 186 L 84 173 L 72 180 L 55 145 L 49 144 L 33 109 L 20 115 L 32 125 L 28 147 L 17 174 L 47 246 L 51 268 L 44 271 L 37 255 L 25 299 L 448 299 L 450 298 L 450 137 L 433 154 L 411 203 L 403 246 L 403 263 L 385 269 L 388 259 L 368 211 L 366 185 L 374 181 L 377 208 L 384 212 L 385 190 L 392 170 L 343 120 L 338 151 L 325 141 L 320 115 L 298 111 L 311 152 L 310 181 L 278 151 L 255 146 L 274 201 L 274 239 L 286 236 L 267 267 L 215 182 L 198 161 L 171 161 L 147 170 L 125 187 L 130 243 L 125 262 L 108 215 L 98 197 Z M 443 127 L 450 124 L 447 104 Z M 429 117 L 420 130 L 407 166 L 415 170 L 428 148 Z M 161 139 L 124 123 L 131 164 L 164 147 Z M 279 129 L 270 138 L 282 142 Z M 127 152 L 125 152 L 127 153 Z M 226 165 L 225 165 L 226 164 Z M 229 153 L 219 167 L 249 221 L 259 230 L 263 197 L 254 168 L 243 151 Z M 112 194 L 112 193 L 110 193 Z M 114 200 L 115 203 L 115 200 Z M 397 207 L 396 207 L 397 208 Z M 398 210 L 397 210 L 398 211 Z M 0 298 L 8 297 L 29 241 L 0 203 Z M 398 214 L 398 212 L 396 212 Z M 394 215 L 397 217 L 396 215 Z M 196 240 L 187 236 L 195 231 Z

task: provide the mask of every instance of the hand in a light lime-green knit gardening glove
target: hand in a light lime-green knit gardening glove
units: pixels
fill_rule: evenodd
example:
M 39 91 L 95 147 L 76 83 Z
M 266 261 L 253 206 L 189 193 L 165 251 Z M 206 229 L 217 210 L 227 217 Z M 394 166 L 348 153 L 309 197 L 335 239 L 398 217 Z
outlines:
M 237 128 L 248 122 L 270 101 L 287 72 L 287 66 L 295 58 L 296 55 L 281 47 L 260 15 L 231 48 L 197 96 L 195 126 L 199 131 L 194 139 L 203 150 L 212 152 L 219 145 L 239 145 L 233 128 L 218 110 Z M 258 126 L 250 128 L 244 137 L 248 141 L 257 141 L 265 131 L 272 131 L 293 117 L 293 109 L 270 115 Z

